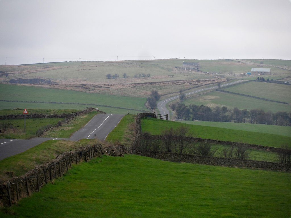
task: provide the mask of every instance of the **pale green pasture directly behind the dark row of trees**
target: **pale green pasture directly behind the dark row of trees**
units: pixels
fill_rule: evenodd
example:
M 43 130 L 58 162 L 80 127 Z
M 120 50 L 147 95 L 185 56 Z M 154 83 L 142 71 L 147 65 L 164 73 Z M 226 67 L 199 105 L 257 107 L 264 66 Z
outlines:
M 288 97 L 289 98 L 289 97 Z M 200 96 L 187 97 L 183 103 L 185 105 L 196 104 L 214 108 L 215 106 L 226 106 L 228 108 L 237 107 L 239 109 L 263 109 L 265 112 L 286 111 L 291 112 L 291 104 L 282 104 L 271 101 L 264 101 L 251 97 L 239 96 L 224 92 L 209 92 Z

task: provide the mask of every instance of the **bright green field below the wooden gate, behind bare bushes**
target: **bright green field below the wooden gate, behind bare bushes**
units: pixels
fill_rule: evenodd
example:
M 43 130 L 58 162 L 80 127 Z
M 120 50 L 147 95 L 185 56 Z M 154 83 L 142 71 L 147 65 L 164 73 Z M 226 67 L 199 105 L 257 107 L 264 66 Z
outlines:
M 155 118 L 144 118 L 141 121 L 143 133 L 149 132 L 151 135 L 161 135 L 165 128 L 180 126 L 181 123 Z M 186 124 L 182 124 L 186 125 Z M 237 129 L 226 129 L 212 126 L 189 125 L 190 137 L 200 137 L 231 142 L 242 142 L 248 144 L 258 144 L 270 147 L 281 147 L 288 145 L 291 147 L 291 136 L 275 135 L 269 133 L 241 131 Z

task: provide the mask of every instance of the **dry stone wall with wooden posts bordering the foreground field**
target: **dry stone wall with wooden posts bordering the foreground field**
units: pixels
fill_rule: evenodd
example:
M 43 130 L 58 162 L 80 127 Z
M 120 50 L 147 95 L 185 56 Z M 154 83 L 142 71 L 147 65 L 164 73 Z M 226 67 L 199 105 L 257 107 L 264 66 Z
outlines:
M 11 206 L 19 199 L 40 191 L 43 185 L 61 177 L 73 164 L 87 162 L 102 155 L 123 156 L 125 153 L 128 153 L 125 146 L 104 148 L 101 144 L 96 144 L 58 155 L 56 159 L 35 167 L 24 176 L 13 177 L 5 182 L 0 181 L 0 207 Z

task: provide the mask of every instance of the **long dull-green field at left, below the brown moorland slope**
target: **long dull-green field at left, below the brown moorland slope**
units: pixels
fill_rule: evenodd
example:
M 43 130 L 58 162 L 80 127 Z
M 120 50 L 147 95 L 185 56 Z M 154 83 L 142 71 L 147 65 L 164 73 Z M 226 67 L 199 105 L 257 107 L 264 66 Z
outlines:
M 77 92 L 72 90 L 58 90 L 58 89 L 49 89 L 42 87 L 31 87 L 23 85 L 8 85 L 0 84 L 1 96 L 0 100 L 2 101 L 0 109 L 13 109 L 8 108 L 6 104 L 15 103 L 7 101 L 20 101 L 17 108 L 30 108 L 24 107 L 27 104 L 37 104 L 33 108 L 49 108 L 52 109 L 64 109 L 67 108 L 63 104 L 72 104 L 74 107 L 70 108 L 79 109 L 85 108 L 88 106 L 93 106 L 98 109 L 106 109 L 105 112 L 110 113 L 111 110 L 119 109 L 123 111 L 123 114 L 128 112 L 127 110 L 131 109 L 133 112 L 147 110 L 144 104 L 146 98 L 135 98 L 135 97 L 126 97 L 126 96 L 113 96 L 113 95 L 104 95 L 104 94 L 95 94 L 95 93 L 86 93 L 86 92 Z M 22 101 L 30 101 L 29 103 Z M 35 103 L 33 103 L 35 102 Z M 42 103 L 41 102 L 48 102 Z M 75 105 L 79 107 L 76 108 Z M 15 105 L 15 104 L 14 104 Z M 60 105 L 57 107 L 56 105 Z M 101 108 L 102 107 L 102 108 Z M 121 109 L 121 110 L 120 110 Z

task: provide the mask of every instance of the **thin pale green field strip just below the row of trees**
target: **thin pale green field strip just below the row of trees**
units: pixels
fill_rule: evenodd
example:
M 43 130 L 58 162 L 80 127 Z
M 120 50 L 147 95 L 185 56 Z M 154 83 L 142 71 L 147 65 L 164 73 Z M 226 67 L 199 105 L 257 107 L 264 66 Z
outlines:
M 275 126 L 265 124 L 250 123 L 226 123 L 226 122 L 210 122 L 210 121 L 178 121 L 185 124 L 196 126 L 212 126 L 226 129 L 242 130 L 257 133 L 268 133 L 275 135 L 291 136 L 291 126 Z

